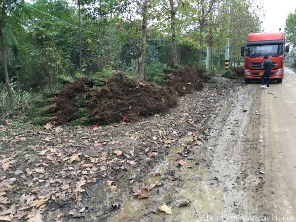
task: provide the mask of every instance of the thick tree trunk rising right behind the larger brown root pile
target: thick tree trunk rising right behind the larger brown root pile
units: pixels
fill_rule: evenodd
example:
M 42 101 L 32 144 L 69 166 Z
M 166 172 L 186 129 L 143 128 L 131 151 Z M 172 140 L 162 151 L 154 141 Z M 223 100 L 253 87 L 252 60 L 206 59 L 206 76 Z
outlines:
M 146 35 L 147 35 L 147 10 L 148 0 L 143 3 L 143 21 L 142 21 L 142 44 L 141 44 L 141 60 L 139 69 L 140 81 L 144 80 L 145 76 L 145 52 L 146 52 Z

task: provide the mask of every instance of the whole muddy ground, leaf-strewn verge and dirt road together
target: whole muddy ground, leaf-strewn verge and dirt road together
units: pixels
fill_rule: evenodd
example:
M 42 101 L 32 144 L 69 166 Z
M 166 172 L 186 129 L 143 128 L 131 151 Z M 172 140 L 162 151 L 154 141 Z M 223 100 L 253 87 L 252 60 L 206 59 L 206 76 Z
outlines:
M 2 125 L 0 217 L 296 221 L 296 74 L 259 86 L 218 78 L 132 124 Z

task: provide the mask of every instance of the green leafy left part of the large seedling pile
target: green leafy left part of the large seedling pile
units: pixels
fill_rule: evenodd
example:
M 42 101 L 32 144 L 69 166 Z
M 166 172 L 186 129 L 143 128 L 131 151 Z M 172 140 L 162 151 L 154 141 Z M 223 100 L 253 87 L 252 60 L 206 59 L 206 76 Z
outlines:
M 106 85 L 106 79 L 112 75 L 112 72 L 89 77 L 58 75 L 57 78 L 62 87 L 59 90 L 47 89 L 42 92 L 41 98 L 35 103 L 37 108 L 34 111 L 32 123 L 44 125 L 50 122 L 58 125 L 86 116 L 87 112 L 82 110 L 87 100 L 92 93 Z

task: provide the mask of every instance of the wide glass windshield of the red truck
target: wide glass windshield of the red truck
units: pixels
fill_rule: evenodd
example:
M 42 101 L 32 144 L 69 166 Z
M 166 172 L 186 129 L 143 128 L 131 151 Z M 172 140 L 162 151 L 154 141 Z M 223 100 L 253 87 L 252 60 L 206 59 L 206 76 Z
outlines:
M 283 44 L 247 45 L 246 56 L 277 56 L 283 55 Z

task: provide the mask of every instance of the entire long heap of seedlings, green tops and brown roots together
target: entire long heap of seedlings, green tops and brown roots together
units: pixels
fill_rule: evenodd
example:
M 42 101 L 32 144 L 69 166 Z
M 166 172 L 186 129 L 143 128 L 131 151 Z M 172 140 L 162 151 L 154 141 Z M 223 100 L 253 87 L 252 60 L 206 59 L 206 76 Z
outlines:
M 123 73 L 76 79 L 60 76 L 64 87 L 43 92 L 32 122 L 106 125 L 165 113 L 178 105 L 178 96 L 202 89 L 203 74 L 201 68 L 182 67 L 165 76 L 165 86 L 137 82 Z

